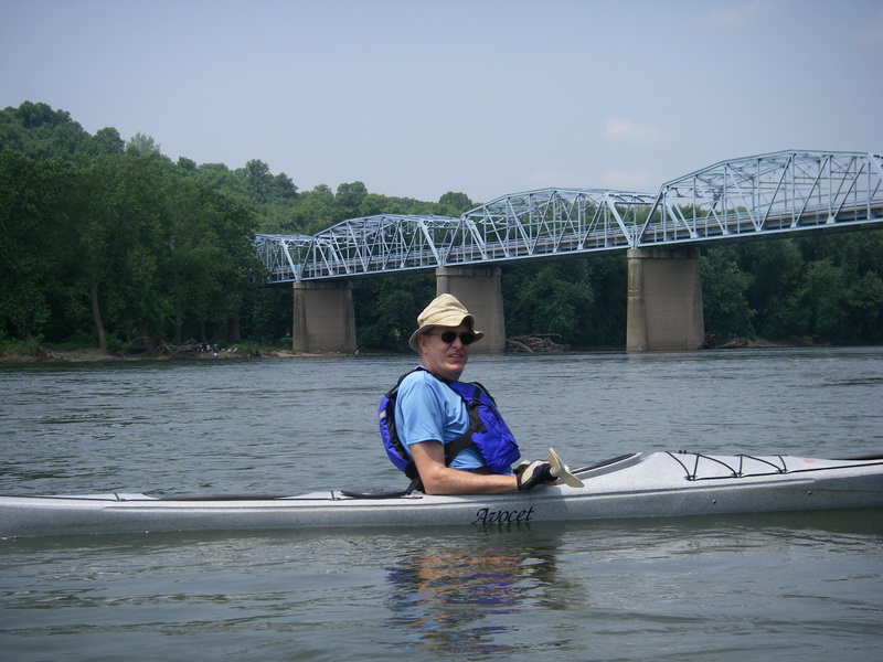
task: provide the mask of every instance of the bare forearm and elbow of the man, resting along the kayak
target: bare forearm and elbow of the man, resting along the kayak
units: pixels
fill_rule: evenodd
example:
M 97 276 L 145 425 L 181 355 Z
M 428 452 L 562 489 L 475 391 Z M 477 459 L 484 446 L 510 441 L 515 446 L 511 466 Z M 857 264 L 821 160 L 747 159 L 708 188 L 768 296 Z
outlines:
M 514 476 L 481 474 L 445 467 L 440 441 L 412 444 L 409 449 L 427 494 L 499 494 L 518 490 Z

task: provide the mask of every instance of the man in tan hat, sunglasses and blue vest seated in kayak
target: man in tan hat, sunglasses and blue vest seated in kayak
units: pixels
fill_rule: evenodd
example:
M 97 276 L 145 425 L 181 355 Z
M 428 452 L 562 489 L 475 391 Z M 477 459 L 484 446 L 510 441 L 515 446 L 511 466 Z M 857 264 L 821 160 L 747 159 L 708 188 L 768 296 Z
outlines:
M 421 365 L 398 383 L 394 436 L 408 456 L 405 461 L 413 460 L 423 491 L 493 494 L 553 484 L 547 462 L 524 463 L 512 471 L 518 445 L 493 399 L 476 391 L 480 387 L 459 382 L 472 343 L 485 335 L 476 331 L 469 311 L 453 295 L 440 295 L 421 312 L 417 324 L 408 344 L 419 353 Z M 482 403 L 469 407 L 479 395 Z M 482 425 L 475 423 L 476 412 Z M 461 449 L 450 457 L 451 446 L 458 444 Z

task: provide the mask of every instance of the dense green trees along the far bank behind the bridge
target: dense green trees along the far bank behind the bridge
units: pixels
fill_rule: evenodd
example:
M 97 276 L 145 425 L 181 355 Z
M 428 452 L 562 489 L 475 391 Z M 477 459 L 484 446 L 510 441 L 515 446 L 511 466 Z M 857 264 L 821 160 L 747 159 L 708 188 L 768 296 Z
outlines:
M 0 349 L 279 341 L 291 292 L 266 285 L 256 233 L 472 206 L 464 193 L 423 202 L 358 181 L 300 191 L 258 159 L 172 161 L 150 136 L 89 135 L 68 113 L 25 102 L 0 111 Z M 706 331 L 719 340 L 883 340 L 881 232 L 721 246 L 700 267 Z M 504 267 L 507 331 L 621 348 L 626 278 L 625 256 Z M 434 295 L 432 274 L 355 280 L 360 345 L 406 350 Z

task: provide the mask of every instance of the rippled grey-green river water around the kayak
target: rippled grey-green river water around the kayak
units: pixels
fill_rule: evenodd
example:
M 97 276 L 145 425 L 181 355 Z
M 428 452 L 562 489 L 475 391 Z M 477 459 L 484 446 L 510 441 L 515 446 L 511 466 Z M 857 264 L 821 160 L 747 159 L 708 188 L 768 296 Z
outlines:
M 407 356 L 0 366 L 0 493 L 403 484 Z M 883 451 L 883 349 L 474 356 L 525 456 Z M 0 541 L 10 660 L 855 660 L 883 511 Z

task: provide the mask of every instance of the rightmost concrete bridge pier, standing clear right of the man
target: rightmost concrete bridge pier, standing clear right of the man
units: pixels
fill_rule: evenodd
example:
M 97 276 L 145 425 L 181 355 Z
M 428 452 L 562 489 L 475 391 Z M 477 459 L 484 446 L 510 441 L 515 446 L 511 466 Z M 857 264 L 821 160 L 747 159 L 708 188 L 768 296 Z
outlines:
M 628 252 L 626 349 L 698 350 L 705 341 L 699 248 Z

